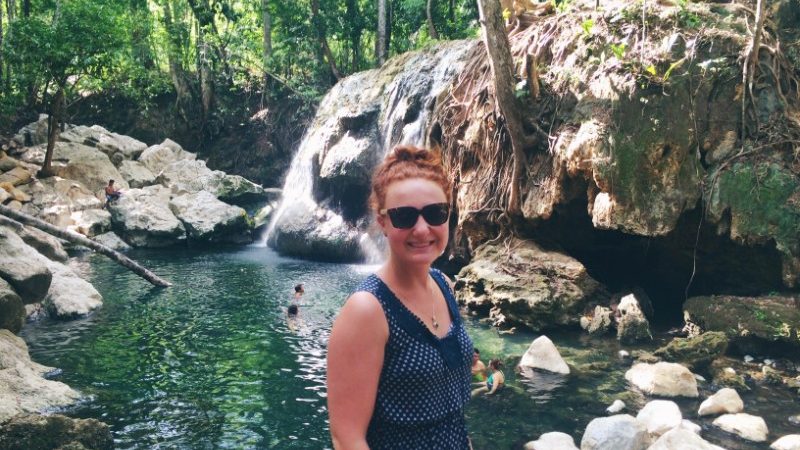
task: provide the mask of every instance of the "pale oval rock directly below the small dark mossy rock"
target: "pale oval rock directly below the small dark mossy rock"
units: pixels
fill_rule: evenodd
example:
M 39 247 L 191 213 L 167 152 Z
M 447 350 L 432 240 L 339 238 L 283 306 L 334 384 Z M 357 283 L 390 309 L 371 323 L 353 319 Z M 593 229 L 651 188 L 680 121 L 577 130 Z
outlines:
M 627 372 L 625 379 L 648 395 L 662 397 L 698 396 L 697 380 L 686 367 L 668 362 L 637 363 Z

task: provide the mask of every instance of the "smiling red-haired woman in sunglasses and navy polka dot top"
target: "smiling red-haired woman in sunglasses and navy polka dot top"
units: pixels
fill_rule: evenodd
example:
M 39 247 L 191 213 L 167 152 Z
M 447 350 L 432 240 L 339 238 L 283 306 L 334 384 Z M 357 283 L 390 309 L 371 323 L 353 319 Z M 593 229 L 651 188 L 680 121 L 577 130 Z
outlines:
M 470 341 L 447 278 L 431 263 L 448 239 L 450 183 L 441 160 L 395 148 L 370 205 L 389 258 L 347 299 L 328 344 L 336 449 L 467 449 Z

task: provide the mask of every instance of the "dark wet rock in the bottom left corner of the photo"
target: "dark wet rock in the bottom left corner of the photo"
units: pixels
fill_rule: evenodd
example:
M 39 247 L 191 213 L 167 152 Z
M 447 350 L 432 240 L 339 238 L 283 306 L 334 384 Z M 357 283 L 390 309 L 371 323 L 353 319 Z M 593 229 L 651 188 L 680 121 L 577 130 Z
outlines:
M 25 414 L 0 426 L 0 448 L 9 450 L 111 450 L 108 425 L 96 419 L 72 419 L 60 414 Z

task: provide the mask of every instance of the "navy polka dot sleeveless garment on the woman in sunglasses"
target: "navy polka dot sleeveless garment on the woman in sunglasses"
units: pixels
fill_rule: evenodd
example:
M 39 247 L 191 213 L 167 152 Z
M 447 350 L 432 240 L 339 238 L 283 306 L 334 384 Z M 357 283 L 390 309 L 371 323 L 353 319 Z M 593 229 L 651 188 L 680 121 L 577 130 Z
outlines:
M 439 339 L 376 275 L 357 291 L 380 301 L 389 324 L 367 443 L 378 449 L 468 449 L 464 405 L 470 398 L 472 341 L 444 275 L 431 277 L 447 300 L 452 325 Z

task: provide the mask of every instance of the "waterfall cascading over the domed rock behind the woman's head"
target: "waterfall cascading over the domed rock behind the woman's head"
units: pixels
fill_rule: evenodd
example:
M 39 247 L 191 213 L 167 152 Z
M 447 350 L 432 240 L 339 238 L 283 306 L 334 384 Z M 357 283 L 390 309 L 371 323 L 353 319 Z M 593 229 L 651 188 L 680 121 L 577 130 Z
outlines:
M 400 55 L 337 83 L 292 160 L 262 245 L 310 259 L 382 261 L 385 241 L 365 217 L 369 176 L 395 145 L 428 143 L 436 98 L 475 43 Z

